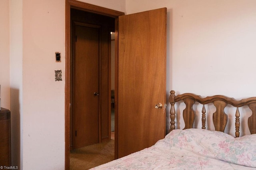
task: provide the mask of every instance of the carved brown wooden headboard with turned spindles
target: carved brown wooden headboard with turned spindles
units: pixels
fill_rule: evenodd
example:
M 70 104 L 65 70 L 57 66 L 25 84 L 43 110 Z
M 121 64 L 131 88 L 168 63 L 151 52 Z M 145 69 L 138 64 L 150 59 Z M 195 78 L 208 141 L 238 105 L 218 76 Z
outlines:
M 248 118 L 248 127 L 251 134 L 256 133 L 256 97 L 250 97 L 247 99 L 242 100 L 236 100 L 234 98 L 226 97 L 223 95 L 214 95 L 211 97 L 205 97 L 202 98 L 199 95 L 195 95 L 193 93 L 184 93 L 181 95 L 175 95 L 175 91 L 170 91 L 170 97 L 169 102 L 171 104 L 170 109 L 170 119 L 171 119 L 171 125 L 170 125 L 170 131 L 174 130 L 175 127 L 175 103 L 178 101 L 183 101 L 186 104 L 186 108 L 183 111 L 183 119 L 185 123 L 185 128 L 193 128 L 194 120 L 196 113 L 193 110 L 193 105 L 195 102 L 202 104 L 202 129 L 206 128 L 206 109 L 205 105 L 209 103 L 213 103 L 213 105 L 216 107 L 216 112 L 213 113 L 212 121 L 215 127 L 215 130 L 224 132 L 225 127 L 228 122 L 228 115 L 224 112 L 224 108 L 230 104 L 233 107 L 236 107 L 236 113 L 234 120 L 235 124 L 235 136 L 239 137 L 240 135 L 240 113 L 239 113 L 239 107 L 248 106 L 250 110 L 252 111 L 252 115 Z

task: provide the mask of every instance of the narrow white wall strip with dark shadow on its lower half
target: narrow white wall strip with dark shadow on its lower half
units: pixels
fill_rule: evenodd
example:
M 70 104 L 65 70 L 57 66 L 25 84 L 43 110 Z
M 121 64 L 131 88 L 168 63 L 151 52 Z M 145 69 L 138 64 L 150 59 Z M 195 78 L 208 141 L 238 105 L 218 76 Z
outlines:
M 22 0 L 10 0 L 10 91 L 12 165 L 22 167 Z

